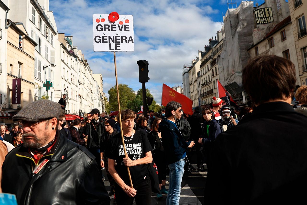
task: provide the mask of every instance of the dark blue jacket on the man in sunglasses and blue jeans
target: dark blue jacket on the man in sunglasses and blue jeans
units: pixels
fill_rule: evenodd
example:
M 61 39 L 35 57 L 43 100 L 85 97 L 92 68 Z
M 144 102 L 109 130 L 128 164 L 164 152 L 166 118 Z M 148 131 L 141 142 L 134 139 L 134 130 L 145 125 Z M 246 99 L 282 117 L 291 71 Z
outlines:
M 167 163 L 173 164 L 182 159 L 191 141 L 186 142 L 175 124 L 168 120 L 160 122 L 158 132 L 161 132 Z

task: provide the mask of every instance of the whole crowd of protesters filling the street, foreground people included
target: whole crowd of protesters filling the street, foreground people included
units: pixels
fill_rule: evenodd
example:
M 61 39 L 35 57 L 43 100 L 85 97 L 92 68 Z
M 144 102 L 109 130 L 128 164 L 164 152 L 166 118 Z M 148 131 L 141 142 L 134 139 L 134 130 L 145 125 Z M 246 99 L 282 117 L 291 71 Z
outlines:
M 258 56 L 243 69 L 253 103 L 242 110 L 213 97 L 192 115 L 171 101 L 148 117 L 129 109 L 109 117 L 95 108 L 83 121 L 68 122 L 65 100 L 35 101 L 13 116 L 12 130 L 1 125 L 2 190 L 18 204 L 109 204 L 111 195 L 115 204 L 151 204 L 153 192 L 176 205 L 195 157 L 197 171 L 208 171 L 208 204 L 300 202 L 307 86 L 296 90 L 295 81 L 289 60 Z

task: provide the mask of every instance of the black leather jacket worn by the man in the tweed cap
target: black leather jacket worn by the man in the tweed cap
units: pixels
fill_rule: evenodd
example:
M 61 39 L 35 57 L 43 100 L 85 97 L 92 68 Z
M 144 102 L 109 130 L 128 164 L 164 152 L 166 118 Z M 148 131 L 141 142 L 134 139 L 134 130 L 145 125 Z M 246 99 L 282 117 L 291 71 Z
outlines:
M 55 145 L 41 160 L 49 161 L 37 174 L 28 148 L 13 149 L 2 166 L 2 191 L 15 194 L 19 205 L 109 204 L 94 156 L 57 131 Z

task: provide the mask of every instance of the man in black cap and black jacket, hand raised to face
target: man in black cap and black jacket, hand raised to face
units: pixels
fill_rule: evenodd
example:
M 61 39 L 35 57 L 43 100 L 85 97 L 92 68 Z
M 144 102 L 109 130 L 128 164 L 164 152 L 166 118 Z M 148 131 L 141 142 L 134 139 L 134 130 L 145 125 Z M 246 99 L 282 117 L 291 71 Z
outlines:
M 104 128 L 105 119 L 100 117 L 99 113 L 97 108 L 87 113 L 88 122 L 85 124 L 83 131 L 84 135 L 87 135 L 87 149 L 95 156 L 97 164 L 100 164 L 101 137 L 104 136 L 106 132 Z

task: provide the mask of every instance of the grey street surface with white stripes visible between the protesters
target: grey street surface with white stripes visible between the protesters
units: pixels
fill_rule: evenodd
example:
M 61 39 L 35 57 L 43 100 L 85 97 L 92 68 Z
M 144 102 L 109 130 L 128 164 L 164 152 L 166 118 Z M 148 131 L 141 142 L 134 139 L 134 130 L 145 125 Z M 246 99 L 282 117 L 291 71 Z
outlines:
M 196 155 L 192 155 L 192 158 L 196 158 Z M 193 163 L 191 164 L 191 173 L 192 175 L 189 176 L 187 179 L 183 179 L 181 183 L 181 195 L 179 204 L 180 205 L 203 205 L 204 204 L 204 186 L 206 183 L 207 172 L 197 172 L 196 168 L 197 165 L 196 160 L 190 160 Z M 206 166 L 205 166 L 206 168 Z M 103 176 L 106 176 L 106 171 L 103 170 Z M 109 181 L 106 177 L 104 181 L 107 191 L 111 190 Z M 169 185 L 169 177 L 166 177 L 166 189 L 168 189 Z M 152 205 L 164 205 L 166 204 L 166 195 L 163 195 L 162 199 L 157 199 L 156 194 L 152 194 L 151 197 L 151 204 Z M 113 204 L 113 196 L 111 196 L 111 203 Z M 134 203 L 135 204 L 135 203 Z

